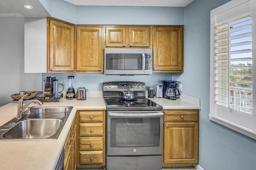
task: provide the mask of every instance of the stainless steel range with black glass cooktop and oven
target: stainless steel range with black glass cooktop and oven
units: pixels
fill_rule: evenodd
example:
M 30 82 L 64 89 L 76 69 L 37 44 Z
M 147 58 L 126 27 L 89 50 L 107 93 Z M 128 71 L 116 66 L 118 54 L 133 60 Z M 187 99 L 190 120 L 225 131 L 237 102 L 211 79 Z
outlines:
M 127 87 L 134 100 L 124 100 Z M 145 98 L 143 82 L 103 83 L 106 170 L 162 170 L 162 106 Z

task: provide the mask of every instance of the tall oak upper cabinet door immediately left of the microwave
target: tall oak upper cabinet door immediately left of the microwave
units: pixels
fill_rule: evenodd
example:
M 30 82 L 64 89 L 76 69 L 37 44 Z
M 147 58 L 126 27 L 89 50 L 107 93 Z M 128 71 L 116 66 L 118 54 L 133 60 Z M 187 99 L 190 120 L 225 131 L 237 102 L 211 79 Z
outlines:
M 76 72 L 102 72 L 102 26 L 78 26 Z

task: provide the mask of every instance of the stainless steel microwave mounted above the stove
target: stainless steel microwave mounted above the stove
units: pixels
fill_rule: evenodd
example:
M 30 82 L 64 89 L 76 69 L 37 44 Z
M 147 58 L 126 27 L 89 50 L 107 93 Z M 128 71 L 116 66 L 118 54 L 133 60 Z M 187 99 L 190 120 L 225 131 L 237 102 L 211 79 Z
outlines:
M 104 49 L 104 74 L 152 74 L 152 49 Z

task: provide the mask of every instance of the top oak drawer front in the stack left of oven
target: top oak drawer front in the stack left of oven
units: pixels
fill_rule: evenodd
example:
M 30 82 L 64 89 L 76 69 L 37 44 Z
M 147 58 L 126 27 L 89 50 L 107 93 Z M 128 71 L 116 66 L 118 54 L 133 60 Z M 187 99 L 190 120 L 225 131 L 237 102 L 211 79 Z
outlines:
M 103 121 L 103 111 L 80 111 L 80 122 Z

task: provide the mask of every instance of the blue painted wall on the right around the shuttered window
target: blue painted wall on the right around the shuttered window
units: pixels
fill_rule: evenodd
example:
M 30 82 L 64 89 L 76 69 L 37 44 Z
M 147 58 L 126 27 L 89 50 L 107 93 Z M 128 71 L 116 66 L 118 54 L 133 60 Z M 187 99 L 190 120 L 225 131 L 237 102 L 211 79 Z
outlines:
M 199 164 L 205 170 L 255 170 L 256 140 L 209 120 L 210 10 L 230 0 L 195 0 L 185 7 L 184 73 L 172 78 L 201 98 Z

